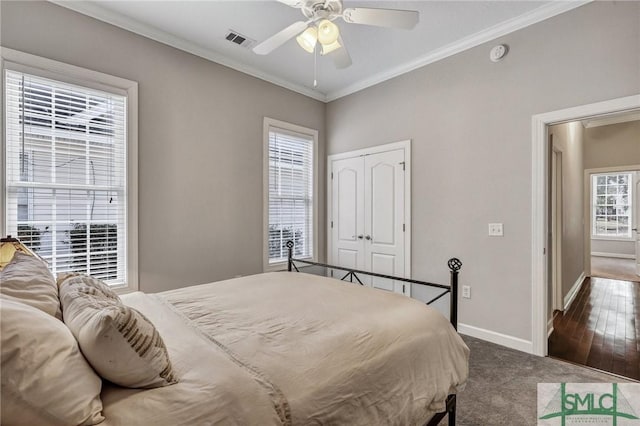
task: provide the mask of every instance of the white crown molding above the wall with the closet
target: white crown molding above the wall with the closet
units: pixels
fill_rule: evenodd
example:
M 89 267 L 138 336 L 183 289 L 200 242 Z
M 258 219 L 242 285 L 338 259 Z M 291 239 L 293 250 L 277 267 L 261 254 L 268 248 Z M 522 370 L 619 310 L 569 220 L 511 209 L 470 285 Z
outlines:
M 383 81 L 390 80 L 394 77 L 398 77 L 402 74 L 424 67 L 425 65 L 432 64 L 449 56 L 453 56 L 457 53 L 479 46 L 483 43 L 495 40 L 496 38 L 544 21 L 545 19 L 552 18 L 587 3 L 591 3 L 592 1 L 593 0 L 567 0 L 547 3 L 516 18 L 501 22 L 468 37 L 464 37 L 454 43 L 448 44 L 440 49 L 434 50 L 411 62 L 407 62 L 388 71 L 360 80 L 357 83 L 345 87 L 344 89 L 329 92 L 327 93 L 326 102 L 331 102 L 352 93 L 359 92 L 360 90 L 382 83 Z

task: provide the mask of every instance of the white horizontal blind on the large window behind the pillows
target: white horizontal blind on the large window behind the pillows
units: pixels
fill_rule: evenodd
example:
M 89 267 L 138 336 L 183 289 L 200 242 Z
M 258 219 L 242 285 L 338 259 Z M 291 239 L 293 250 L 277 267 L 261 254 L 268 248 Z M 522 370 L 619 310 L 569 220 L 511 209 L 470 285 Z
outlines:
M 126 96 L 5 72 L 6 227 L 55 273 L 126 280 Z

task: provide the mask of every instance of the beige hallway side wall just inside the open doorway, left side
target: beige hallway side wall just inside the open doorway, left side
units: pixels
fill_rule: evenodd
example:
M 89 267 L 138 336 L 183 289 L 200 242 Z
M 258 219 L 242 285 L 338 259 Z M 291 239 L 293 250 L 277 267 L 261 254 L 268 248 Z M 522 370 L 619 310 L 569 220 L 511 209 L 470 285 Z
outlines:
M 549 127 L 562 151 L 562 296 L 584 272 L 584 127 L 578 121 Z

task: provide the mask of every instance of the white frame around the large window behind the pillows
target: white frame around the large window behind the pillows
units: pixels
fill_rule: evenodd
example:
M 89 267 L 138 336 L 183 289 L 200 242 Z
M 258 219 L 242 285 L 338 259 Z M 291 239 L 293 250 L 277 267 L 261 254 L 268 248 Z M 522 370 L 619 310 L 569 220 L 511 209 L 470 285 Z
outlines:
M 0 47 L 0 71 L 2 72 L 3 101 L 0 105 L 1 133 L 0 164 L 7 170 L 6 158 L 6 123 L 4 111 L 5 72 L 12 70 L 39 77 L 49 78 L 64 83 L 75 84 L 91 89 L 111 92 L 127 98 L 126 125 L 126 194 L 127 209 L 125 218 L 127 240 L 127 271 L 125 284 L 113 286 L 118 293 L 128 293 L 139 289 L 138 274 L 138 83 L 97 71 L 69 65 L 63 62 L 42 58 L 18 50 Z M 6 235 L 7 206 L 6 179 L 0 173 L 0 234 Z

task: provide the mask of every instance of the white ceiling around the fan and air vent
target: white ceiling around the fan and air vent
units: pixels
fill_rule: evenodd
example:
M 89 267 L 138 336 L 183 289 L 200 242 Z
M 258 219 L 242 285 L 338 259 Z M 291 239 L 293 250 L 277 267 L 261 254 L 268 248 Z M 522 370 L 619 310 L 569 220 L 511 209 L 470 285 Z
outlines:
M 344 7 L 420 12 L 413 30 L 336 21 L 353 65 L 338 70 L 295 39 L 267 56 L 225 40 L 233 29 L 260 42 L 302 19 L 277 1 L 54 1 L 94 18 L 186 50 L 322 101 L 330 101 L 458 53 L 585 1 L 344 1 Z M 487 52 L 488 55 L 488 52 Z M 487 59 L 488 60 L 488 59 Z

